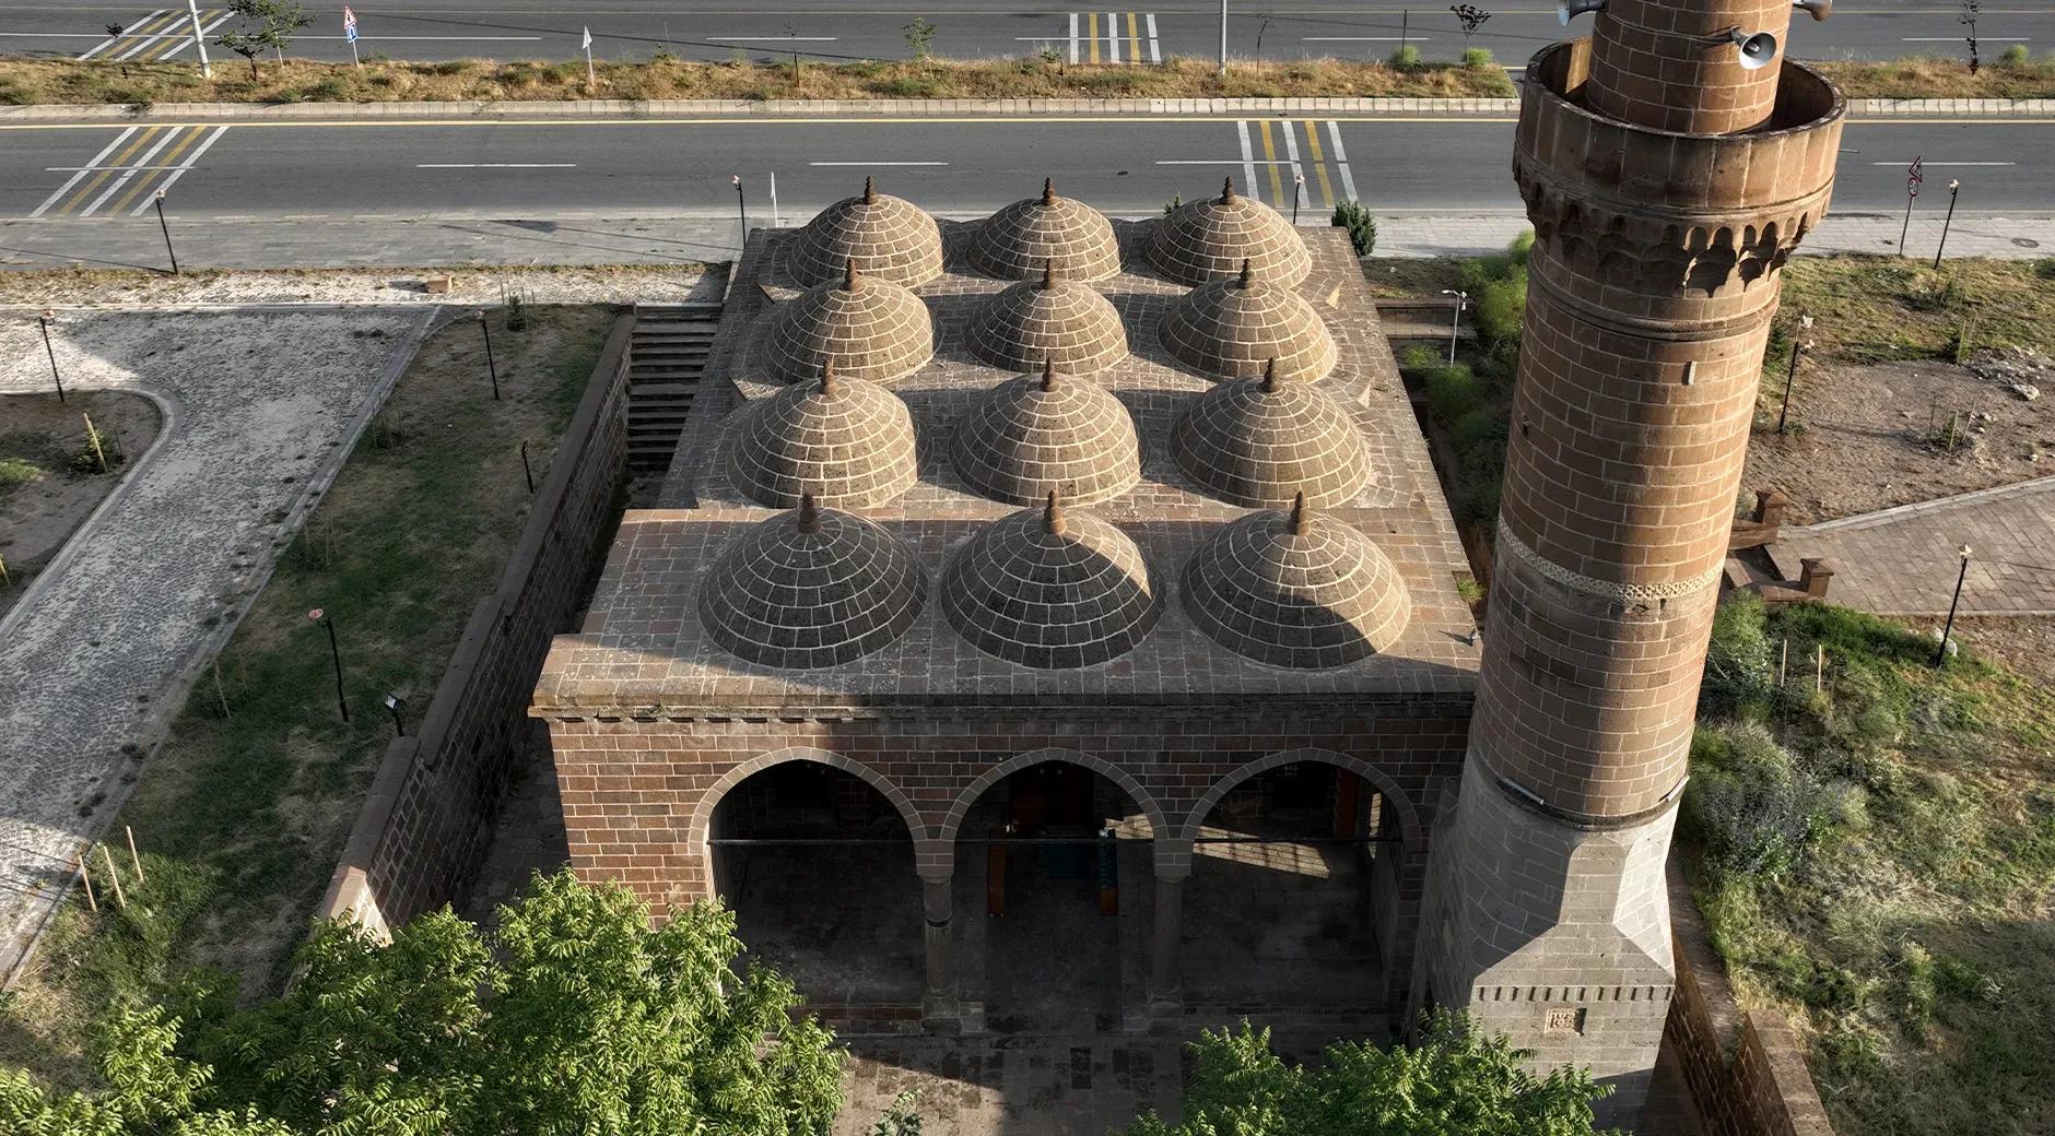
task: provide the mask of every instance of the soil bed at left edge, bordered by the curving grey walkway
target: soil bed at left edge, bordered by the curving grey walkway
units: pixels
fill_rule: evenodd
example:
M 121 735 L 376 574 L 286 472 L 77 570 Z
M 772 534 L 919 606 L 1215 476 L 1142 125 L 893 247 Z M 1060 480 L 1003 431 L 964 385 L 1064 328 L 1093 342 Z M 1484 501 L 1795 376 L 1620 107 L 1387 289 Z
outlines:
M 82 458 L 84 419 L 101 431 L 113 466 L 101 472 Z M 64 403 L 51 394 L 0 394 L 0 616 L 29 588 L 72 532 L 121 483 L 127 464 L 142 456 L 162 427 L 156 405 L 119 390 L 72 390 Z

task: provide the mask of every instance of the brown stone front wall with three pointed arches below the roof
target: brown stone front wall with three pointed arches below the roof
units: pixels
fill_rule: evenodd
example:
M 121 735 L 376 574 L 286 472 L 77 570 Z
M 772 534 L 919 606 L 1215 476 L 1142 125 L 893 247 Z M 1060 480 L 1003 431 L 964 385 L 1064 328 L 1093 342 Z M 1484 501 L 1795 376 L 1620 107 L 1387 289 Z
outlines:
M 1064 721 L 964 719 L 555 719 L 551 746 L 571 865 L 586 879 L 623 879 L 658 904 L 709 892 L 707 830 L 721 795 L 783 760 L 832 764 L 871 783 L 914 836 L 923 877 L 954 873 L 954 836 L 972 803 L 1009 772 L 1067 760 L 1106 774 L 1149 818 L 1157 873 L 1190 871 L 1198 824 L 1245 779 L 1297 760 L 1365 777 L 1385 795 L 1402 834 L 1399 945 L 1387 996 L 1402 1000 L 1420 929 L 1430 832 L 1441 785 L 1461 762 L 1467 707 L 1428 717 L 1315 717 L 1288 707 L 1245 717 L 1118 717 Z M 1186 711 L 1190 713 L 1190 711 Z

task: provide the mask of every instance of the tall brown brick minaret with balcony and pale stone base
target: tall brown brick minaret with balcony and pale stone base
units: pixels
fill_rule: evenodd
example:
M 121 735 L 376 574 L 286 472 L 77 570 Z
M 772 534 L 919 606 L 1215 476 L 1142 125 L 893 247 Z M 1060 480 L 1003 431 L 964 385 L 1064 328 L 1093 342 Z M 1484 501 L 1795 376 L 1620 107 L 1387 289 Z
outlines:
M 1535 224 L 1469 756 L 1434 865 L 1428 990 L 1617 1087 L 1673 990 L 1662 863 L 1778 271 L 1819 224 L 1841 99 L 1790 0 L 1611 0 L 1533 58 L 1512 173 Z

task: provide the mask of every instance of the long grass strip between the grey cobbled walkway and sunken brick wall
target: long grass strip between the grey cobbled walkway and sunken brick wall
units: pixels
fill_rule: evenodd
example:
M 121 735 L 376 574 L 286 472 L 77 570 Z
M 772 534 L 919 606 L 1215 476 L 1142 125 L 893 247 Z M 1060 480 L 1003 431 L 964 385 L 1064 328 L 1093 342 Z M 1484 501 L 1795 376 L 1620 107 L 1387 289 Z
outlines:
M 115 818 L 146 883 L 123 850 L 125 910 L 101 881 L 99 914 L 60 912 L 0 1005 L 0 1064 L 78 1085 L 107 1009 L 191 965 L 279 986 L 393 737 L 382 698 L 427 707 L 526 520 L 520 444 L 540 477 L 610 318 L 530 308 L 526 331 L 495 327 L 501 401 L 475 320 L 421 347 Z M 347 723 L 312 608 L 335 620 Z

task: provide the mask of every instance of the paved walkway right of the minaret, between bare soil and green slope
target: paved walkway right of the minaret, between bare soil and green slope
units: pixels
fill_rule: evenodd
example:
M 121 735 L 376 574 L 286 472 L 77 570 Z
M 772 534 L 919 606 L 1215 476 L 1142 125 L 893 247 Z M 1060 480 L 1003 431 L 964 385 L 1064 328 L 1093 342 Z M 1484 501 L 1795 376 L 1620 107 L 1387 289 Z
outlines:
M 1786 528 L 1769 548 L 1786 579 L 1800 557 L 1827 557 L 1835 604 L 1891 616 L 1940 616 L 1969 544 L 1963 614 L 2055 614 L 2055 477 L 1917 505 Z

